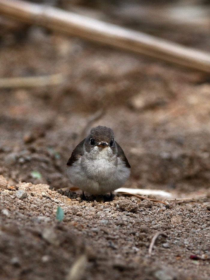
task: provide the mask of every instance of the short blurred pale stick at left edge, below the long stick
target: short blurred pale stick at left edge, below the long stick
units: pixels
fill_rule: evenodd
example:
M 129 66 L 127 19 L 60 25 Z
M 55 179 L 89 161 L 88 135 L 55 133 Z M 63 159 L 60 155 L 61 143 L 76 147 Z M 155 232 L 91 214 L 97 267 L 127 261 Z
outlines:
M 63 83 L 63 74 L 44 75 L 39 77 L 1 78 L 0 88 L 45 87 Z

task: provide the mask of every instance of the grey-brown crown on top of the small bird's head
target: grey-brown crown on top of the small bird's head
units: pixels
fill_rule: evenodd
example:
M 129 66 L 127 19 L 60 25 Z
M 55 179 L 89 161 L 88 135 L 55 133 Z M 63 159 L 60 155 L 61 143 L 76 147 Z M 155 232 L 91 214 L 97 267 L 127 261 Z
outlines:
M 114 138 L 114 132 L 109 127 L 99 125 L 91 129 L 89 136 L 97 142 L 109 143 Z

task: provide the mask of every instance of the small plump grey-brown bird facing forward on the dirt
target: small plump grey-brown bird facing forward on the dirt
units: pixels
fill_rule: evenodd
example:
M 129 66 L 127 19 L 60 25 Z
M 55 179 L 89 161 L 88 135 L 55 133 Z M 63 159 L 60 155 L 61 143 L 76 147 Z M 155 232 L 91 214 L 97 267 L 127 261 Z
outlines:
M 122 148 L 114 140 L 114 132 L 106 126 L 93 127 L 87 138 L 73 150 L 67 162 L 70 182 L 94 195 L 112 192 L 125 184 L 130 164 Z

